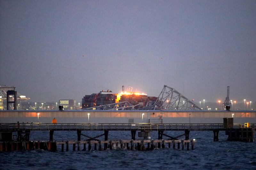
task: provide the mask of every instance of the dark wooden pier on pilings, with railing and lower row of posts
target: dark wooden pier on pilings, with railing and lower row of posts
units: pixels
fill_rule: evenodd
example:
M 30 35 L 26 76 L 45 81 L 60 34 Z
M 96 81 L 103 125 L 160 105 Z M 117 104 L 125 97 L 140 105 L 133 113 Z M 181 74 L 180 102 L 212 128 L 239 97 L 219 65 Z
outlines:
M 229 119 L 229 118 L 228 118 Z M 254 142 L 254 127 L 256 124 L 250 124 L 250 127 L 245 128 L 241 125 L 233 125 L 230 123 L 197 123 L 197 124 L 179 124 L 179 123 L 0 123 L 0 151 L 14 150 L 35 150 L 44 149 L 48 151 L 57 151 L 57 145 L 61 144 L 61 151 L 69 150 L 69 145 L 73 145 L 73 150 L 80 151 L 81 145 L 86 145 L 88 150 L 106 150 L 107 148 L 121 148 L 130 150 L 150 150 L 155 148 L 165 148 L 166 145 L 170 148 L 182 149 L 189 144 L 191 149 L 194 149 L 195 140 L 189 140 L 190 131 L 213 131 L 213 141 L 219 141 L 219 131 L 225 131 L 230 141 Z M 31 131 L 49 131 L 49 142 L 30 141 L 29 136 Z M 77 141 L 53 141 L 54 131 L 76 131 Z M 104 133 L 95 137 L 90 137 L 83 132 L 86 131 L 103 131 Z M 131 140 L 109 140 L 109 131 L 131 131 Z M 143 140 L 136 140 L 136 132 Z M 150 140 L 150 132 L 157 131 L 158 139 Z M 178 136 L 170 136 L 165 134 L 165 131 L 183 131 Z M 17 132 L 17 141 L 13 141 L 12 133 Z M 81 136 L 87 139 L 82 141 Z M 104 136 L 104 141 L 97 138 Z M 180 140 L 180 137 L 185 137 Z M 167 139 L 163 139 L 167 137 Z M 93 146 L 94 145 L 94 146 Z M 103 145 L 103 146 L 102 146 Z M 98 149 L 97 149 L 98 148 Z

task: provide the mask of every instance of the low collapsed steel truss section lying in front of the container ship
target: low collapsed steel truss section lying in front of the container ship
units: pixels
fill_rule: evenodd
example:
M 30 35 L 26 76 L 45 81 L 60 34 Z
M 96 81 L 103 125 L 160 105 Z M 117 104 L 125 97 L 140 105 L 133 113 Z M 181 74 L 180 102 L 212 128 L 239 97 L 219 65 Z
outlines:
M 85 108 L 82 110 L 137 110 L 137 109 L 135 109 L 135 107 L 139 106 L 139 105 L 140 104 L 132 105 L 128 101 L 122 101 L 119 103 L 112 103 L 112 104 L 107 104 L 107 105 L 102 105 L 102 106 L 89 107 L 89 108 Z

